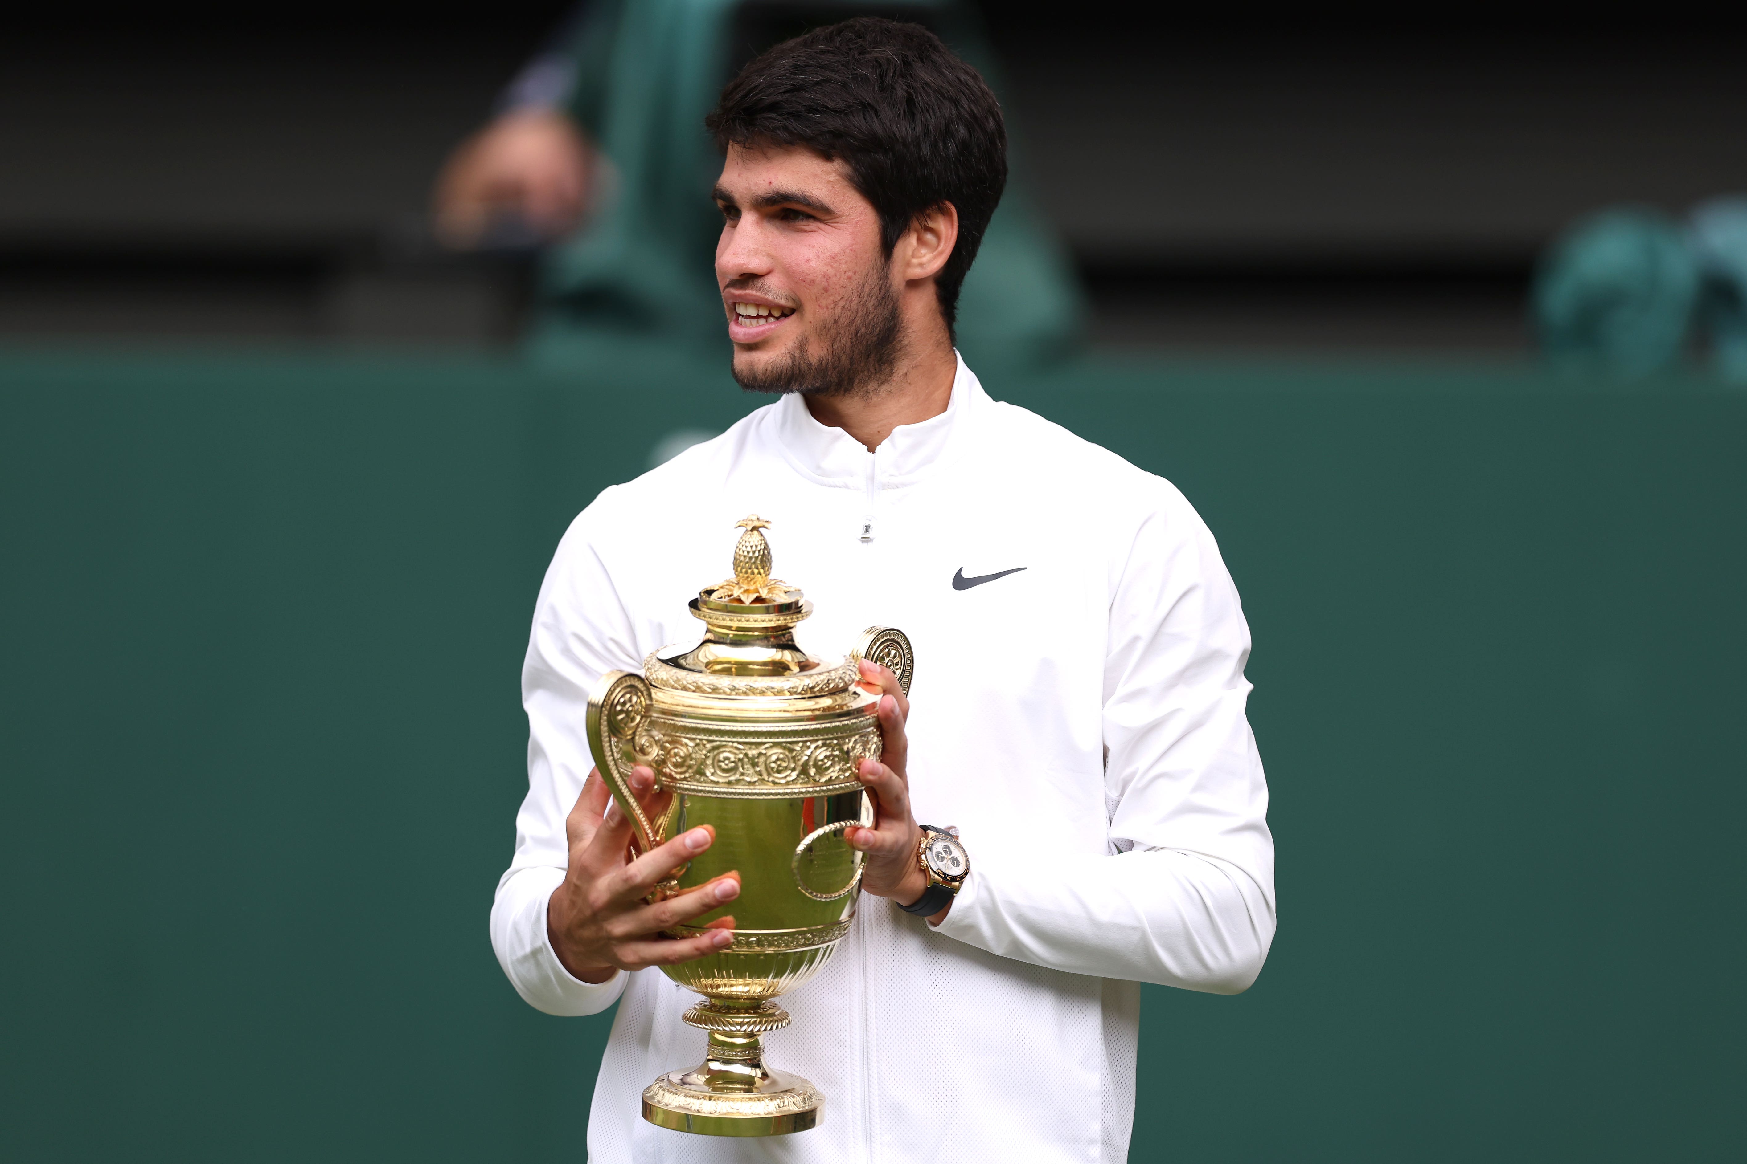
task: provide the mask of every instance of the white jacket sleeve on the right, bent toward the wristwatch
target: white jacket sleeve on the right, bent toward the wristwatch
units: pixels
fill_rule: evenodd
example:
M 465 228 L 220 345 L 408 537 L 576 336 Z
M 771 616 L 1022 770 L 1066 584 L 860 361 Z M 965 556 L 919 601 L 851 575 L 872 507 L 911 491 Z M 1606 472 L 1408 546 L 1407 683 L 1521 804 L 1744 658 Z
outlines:
M 1212 534 L 1165 482 L 1111 560 L 1109 853 L 971 852 L 940 932 L 1073 974 L 1223 995 L 1274 941 L 1268 789 L 1244 705 L 1249 628 Z

